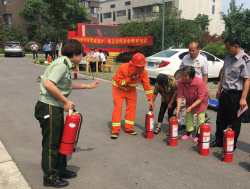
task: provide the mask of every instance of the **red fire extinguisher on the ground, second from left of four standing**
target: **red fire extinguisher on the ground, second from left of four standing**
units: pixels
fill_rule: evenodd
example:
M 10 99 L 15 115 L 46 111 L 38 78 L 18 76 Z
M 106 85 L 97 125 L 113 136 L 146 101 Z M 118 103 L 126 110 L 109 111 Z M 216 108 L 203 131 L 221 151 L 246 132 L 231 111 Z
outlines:
M 177 146 L 178 144 L 178 119 L 173 116 L 169 119 L 169 146 Z

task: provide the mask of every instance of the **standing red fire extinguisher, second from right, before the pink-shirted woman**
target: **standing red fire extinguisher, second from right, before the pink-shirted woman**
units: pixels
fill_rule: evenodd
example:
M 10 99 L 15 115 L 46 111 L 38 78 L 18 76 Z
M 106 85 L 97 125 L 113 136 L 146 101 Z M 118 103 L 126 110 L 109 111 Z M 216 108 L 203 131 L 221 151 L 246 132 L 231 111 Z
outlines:
M 199 146 L 199 154 L 202 156 L 208 156 L 209 155 L 209 143 L 210 143 L 210 126 L 207 124 L 209 119 L 205 121 L 205 123 L 202 123 L 199 125 L 197 132 L 200 129 L 200 138 L 198 142 Z

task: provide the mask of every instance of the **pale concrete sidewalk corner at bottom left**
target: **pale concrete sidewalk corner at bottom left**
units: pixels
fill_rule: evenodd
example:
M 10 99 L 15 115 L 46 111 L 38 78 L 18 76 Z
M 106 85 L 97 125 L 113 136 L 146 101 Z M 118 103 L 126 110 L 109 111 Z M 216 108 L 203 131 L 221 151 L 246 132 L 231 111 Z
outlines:
M 31 189 L 1 141 L 0 189 Z

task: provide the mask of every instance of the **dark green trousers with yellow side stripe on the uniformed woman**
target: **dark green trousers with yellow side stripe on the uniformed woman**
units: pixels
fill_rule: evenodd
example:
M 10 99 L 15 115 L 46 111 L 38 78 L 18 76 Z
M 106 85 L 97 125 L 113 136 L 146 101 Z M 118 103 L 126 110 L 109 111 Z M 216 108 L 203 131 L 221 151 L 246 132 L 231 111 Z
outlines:
M 43 179 L 45 182 L 54 182 L 66 173 L 67 167 L 66 155 L 59 153 L 64 129 L 63 108 L 38 101 L 35 106 L 35 117 L 40 123 L 43 136 Z

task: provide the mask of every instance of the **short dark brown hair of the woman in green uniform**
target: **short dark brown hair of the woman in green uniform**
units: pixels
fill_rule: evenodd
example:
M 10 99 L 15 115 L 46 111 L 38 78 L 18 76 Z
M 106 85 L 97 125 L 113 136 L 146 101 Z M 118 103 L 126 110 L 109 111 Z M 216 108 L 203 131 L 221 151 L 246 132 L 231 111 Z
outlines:
M 84 52 L 84 46 L 76 39 L 67 39 L 62 45 L 62 55 L 72 58 L 73 55 L 80 55 Z

